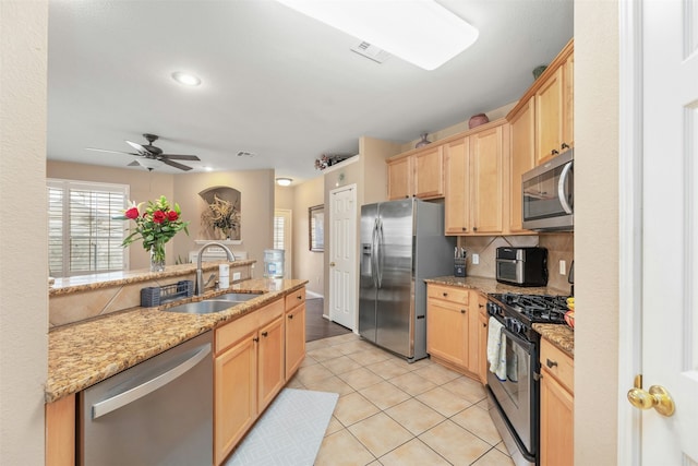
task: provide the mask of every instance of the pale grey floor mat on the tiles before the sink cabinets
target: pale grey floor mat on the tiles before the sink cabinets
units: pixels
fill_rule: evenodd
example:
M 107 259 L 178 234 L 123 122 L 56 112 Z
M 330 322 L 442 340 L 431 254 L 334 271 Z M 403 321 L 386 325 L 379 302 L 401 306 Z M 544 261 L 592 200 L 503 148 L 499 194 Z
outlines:
M 284 389 L 226 466 L 312 466 L 339 395 Z

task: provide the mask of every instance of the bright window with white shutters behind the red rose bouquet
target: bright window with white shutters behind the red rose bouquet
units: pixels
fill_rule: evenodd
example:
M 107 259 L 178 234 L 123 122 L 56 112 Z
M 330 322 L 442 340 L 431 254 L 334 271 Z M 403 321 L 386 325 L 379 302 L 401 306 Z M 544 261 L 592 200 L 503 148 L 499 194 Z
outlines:
M 112 219 L 129 199 L 128 184 L 49 179 L 48 265 L 53 277 L 128 268 L 121 247 L 128 225 Z

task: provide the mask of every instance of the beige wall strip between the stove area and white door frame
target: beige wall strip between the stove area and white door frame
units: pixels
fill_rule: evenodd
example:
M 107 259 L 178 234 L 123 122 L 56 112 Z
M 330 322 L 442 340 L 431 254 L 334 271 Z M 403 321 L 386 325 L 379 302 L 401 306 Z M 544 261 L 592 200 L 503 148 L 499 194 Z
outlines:
M 615 465 L 617 0 L 575 2 L 575 464 Z M 627 381 L 628 389 L 631 384 Z

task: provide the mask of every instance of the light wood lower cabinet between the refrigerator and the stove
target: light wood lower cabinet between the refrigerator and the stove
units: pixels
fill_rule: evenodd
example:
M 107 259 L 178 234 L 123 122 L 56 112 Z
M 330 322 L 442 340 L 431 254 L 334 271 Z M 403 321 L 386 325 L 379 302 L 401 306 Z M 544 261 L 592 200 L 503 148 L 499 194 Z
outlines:
M 486 297 L 456 286 L 426 286 L 426 353 L 450 369 L 477 380 L 486 371 Z M 486 374 L 486 372 L 484 372 Z

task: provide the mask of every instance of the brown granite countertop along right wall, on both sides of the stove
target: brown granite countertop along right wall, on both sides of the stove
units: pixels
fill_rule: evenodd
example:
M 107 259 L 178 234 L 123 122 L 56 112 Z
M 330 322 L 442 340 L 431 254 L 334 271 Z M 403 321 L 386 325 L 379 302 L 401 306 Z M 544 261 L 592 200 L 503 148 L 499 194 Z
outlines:
M 464 288 L 477 289 L 484 294 L 491 292 L 520 292 L 528 295 L 563 295 L 568 296 L 564 290 L 547 287 L 520 287 L 498 283 L 494 278 L 482 277 L 454 277 L 444 276 L 428 278 L 424 282 L 440 285 L 460 286 Z M 575 356 L 575 331 L 564 324 L 533 324 L 533 330 L 541 336 L 565 351 L 574 358 Z

